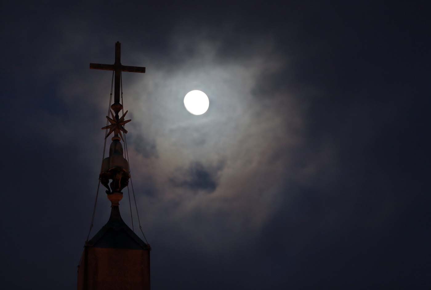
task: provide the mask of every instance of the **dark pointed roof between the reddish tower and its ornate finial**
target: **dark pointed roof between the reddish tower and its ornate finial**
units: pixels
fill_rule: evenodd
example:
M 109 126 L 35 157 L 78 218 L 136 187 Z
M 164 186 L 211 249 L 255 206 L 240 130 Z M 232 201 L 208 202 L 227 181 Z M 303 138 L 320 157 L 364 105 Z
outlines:
M 112 249 L 151 249 L 122 220 L 118 205 L 112 205 L 109 221 L 86 243 L 86 246 Z

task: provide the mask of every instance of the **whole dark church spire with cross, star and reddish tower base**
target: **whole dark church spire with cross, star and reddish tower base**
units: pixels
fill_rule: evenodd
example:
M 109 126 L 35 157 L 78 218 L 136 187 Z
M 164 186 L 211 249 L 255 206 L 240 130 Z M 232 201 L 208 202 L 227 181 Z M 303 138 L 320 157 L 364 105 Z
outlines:
M 113 65 L 90 63 L 91 69 L 113 70 L 115 72 L 114 103 L 111 105 L 111 117 L 106 116 L 110 125 L 105 139 L 114 132 L 109 146 L 109 156 L 103 159 L 99 176 L 100 183 L 107 188 L 111 201 L 109 221 L 85 242 L 84 252 L 78 266 L 78 290 L 148 290 L 150 289 L 150 245 L 144 243 L 122 220 L 119 201 L 121 192 L 128 186 L 130 170 L 124 158 L 120 142 L 127 111 L 119 117 L 123 109 L 120 104 L 121 72 L 145 73 L 144 67 L 123 66 L 120 62 L 120 43 L 116 43 L 115 63 Z M 112 92 L 111 92 L 112 93 Z M 105 144 L 106 145 L 106 144 Z M 127 147 L 127 146 L 126 146 Z M 109 184 L 109 180 L 112 180 Z M 94 215 L 93 215 L 94 216 Z M 92 225 L 91 225 L 92 227 Z

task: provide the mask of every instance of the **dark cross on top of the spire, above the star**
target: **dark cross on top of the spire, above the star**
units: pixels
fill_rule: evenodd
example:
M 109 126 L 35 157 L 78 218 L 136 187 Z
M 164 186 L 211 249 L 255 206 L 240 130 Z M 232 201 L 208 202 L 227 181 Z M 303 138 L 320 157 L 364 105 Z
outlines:
M 145 67 L 123 66 L 120 60 L 121 60 L 121 44 L 119 41 L 117 41 L 115 43 L 115 63 L 114 64 L 90 63 L 90 69 L 113 70 L 115 72 L 114 104 L 111 105 L 111 108 L 115 112 L 115 117 L 117 120 L 119 120 L 118 112 L 123 108 L 123 105 L 120 104 L 121 72 L 145 73 Z

